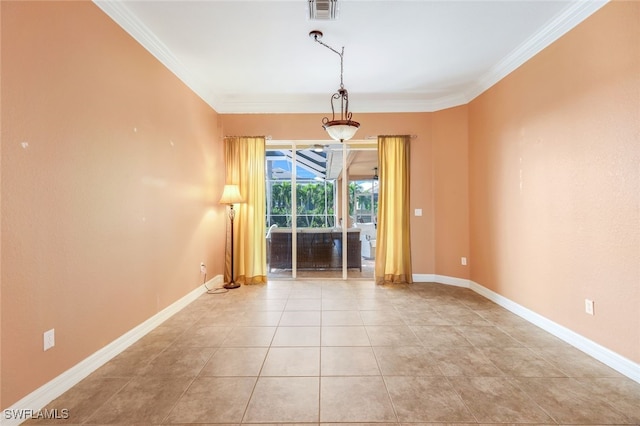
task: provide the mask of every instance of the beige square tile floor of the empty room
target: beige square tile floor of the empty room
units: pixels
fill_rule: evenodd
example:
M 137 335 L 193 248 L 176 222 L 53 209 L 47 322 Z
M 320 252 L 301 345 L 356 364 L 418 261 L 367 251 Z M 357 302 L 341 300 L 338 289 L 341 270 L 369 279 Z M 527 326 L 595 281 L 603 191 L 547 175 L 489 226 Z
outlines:
M 48 408 L 66 424 L 640 424 L 640 384 L 468 289 L 271 281 L 201 296 Z

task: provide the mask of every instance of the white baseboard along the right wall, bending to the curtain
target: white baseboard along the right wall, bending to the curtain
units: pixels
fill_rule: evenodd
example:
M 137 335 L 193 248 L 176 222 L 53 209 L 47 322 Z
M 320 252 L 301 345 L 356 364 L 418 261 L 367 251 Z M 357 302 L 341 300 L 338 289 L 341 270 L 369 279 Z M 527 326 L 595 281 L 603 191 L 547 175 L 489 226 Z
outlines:
M 587 355 L 592 356 L 603 364 L 608 365 L 620 374 L 640 383 L 640 364 L 633 362 L 630 359 L 625 358 L 612 350 L 607 349 L 604 346 L 599 345 L 598 343 L 589 340 L 586 337 L 571 331 L 568 328 L 557 324 L 550 319 L 545 318 L 542 315 L 537 314 L 536 312 L 527 309 L 492 290 L 489 290 L 486 287 L 483 287 L 474 281 L 436 274 L 414 274 L 413 281 L 435 282 L 438 284 L 469 288 L 481 296 L 484 296 L 492 302 L 502 306 L 508 311 L 513 312 L 519 317 L 553 334 L 557 338 L 567 342 Z

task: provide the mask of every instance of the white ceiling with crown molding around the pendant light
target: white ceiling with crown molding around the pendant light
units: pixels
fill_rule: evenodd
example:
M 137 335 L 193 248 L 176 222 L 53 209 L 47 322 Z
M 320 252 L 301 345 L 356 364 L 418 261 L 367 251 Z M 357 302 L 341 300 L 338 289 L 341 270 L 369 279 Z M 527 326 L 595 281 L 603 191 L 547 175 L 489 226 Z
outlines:
M 426 112 L 469 102 L 606 0 L 95 0 L 219 113 L 327 113 L 340 84 L 358 112 Z

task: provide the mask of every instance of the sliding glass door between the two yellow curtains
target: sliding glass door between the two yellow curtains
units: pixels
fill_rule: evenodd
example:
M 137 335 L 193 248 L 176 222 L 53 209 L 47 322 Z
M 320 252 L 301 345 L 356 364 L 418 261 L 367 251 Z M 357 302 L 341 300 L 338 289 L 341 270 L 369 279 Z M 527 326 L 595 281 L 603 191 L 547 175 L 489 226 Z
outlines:
M 375 145 L 365 152 L 325 141 L 267 143 L 269 278 L 373 278 Z

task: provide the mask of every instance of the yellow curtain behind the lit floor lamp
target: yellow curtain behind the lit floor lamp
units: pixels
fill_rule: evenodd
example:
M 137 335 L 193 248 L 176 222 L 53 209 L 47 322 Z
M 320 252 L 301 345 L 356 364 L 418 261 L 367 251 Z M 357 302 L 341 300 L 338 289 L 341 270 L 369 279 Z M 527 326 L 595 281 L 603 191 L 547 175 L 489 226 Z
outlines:
M 245 202 L 237 207 L 234 221 L 234 275 L 242 284 L 267 282 L 265 240 L 265 138 L 225 138 L 227 184 L 240 187 Z M 229 276 L 231 259 L 225 262 Z

